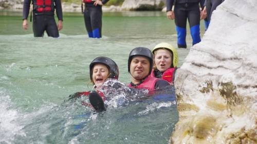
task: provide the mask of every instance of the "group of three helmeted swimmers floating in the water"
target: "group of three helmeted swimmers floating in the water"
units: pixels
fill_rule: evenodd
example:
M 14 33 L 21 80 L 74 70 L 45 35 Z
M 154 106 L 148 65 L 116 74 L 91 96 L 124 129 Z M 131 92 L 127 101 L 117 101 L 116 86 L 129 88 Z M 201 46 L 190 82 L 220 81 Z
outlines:
M 145 89 L 153 94 L 157 89 L 173 85 L 174 74 L 177 69 L 178 54 L 176 49 L 168 43 L 160 43 L 151 51 L 148 48 L 137 47 L 128 55 L 128 73 L 131 74 L 131 83 L 127 86 L 133 89 Z M 96 112 L 105 111 L 105 96 L 101 87 L 108 78 L 118 79 L 119 68 L 114 60 L 100 56 L 89 65 L 91 83 L 94 91 L 77 92 L 72 98 L 88 96 L 89 103 Z

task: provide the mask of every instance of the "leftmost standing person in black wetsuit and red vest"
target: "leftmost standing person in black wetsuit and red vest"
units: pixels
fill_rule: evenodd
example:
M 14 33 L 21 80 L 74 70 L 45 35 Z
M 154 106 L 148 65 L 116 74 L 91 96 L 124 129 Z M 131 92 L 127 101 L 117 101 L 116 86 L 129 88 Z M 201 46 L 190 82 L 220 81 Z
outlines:
M 59 37 L 59 30 L 62 29 L 62 5 L 61 0 L 24 0 L 23 3 L 23 29 L 28 29 L 28 15 L 30 4 L 33 5 L 33 33 L 34 37 L 43 37 L 44 31 L 48 36 Z M 54 20 L 56 9 L 58 25 Z

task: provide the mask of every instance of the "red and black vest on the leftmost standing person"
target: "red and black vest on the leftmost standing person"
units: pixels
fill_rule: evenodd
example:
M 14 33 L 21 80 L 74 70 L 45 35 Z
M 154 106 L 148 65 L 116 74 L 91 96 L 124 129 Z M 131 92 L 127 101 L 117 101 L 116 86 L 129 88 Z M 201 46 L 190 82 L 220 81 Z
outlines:
M 39 14 L 54 14 L 54 0 L 33 0 L 33 12 Z

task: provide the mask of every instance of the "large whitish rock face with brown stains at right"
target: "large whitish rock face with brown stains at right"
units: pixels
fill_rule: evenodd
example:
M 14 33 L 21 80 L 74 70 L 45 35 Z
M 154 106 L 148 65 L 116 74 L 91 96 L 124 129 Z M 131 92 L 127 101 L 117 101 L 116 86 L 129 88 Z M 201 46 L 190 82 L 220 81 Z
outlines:
M 257 143 L 257 1 L 225 0 L 176 72 L 171 143 Z

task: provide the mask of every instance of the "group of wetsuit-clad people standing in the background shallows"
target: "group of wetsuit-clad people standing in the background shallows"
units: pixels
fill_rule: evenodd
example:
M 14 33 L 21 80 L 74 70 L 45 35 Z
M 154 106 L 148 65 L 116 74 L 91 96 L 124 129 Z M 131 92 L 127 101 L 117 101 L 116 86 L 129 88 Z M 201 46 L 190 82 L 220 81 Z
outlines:
M 108 1 L 109 0 L 82 0 L 81 7 L 88 37 L 102 37 L 102 5 L 106 4 Z M 167 17 L 169 19 L 175 19 L 178 48 L 187 48 L 187 19 L 190 25 L 193 45 L 195 45 L 201 41 L 200 19 L 205 18 L 205 27 L 207 29 L 210 24 L 212 12 L 223 1 L 224 0 L 167 0 Z M 59 30 L 63 27 L 61 0 L 24 0 L 23 28 L 25 30 L 28 29 L 27 18 L 30 4 L 33 5 L 34 37 L 42 37 L 44 31 L 47 32 L 48 36 L 59 37 Z M 173 5 L 174 10 L 172 10 Z M 199 6 L 201 9 L 199 9 Z M 58 24 L 56 24 L 54 20 L 54 10 L 56 10 L 57 13 Z

